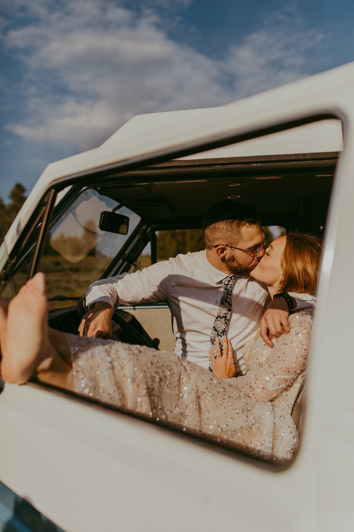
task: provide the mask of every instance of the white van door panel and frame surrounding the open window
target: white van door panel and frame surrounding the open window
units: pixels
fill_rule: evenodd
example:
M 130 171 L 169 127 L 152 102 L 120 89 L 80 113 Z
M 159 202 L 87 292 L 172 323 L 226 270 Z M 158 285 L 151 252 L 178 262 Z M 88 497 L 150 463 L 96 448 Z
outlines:
M 144 154 L 146 161 L 172 152 L 183 155 L 203 143 L 207 149 L 212 141 L 250 138 L 313 117 L 343 120 L 344 153 L 327 219 L 306 417 L 295 460 L 290 467 L 275 470 L 72 395 L 32 384 L 6 384 L 0 396 L 5 435 L 0 438 L 1 479 L 19 495 L 30 494 L 33 505 L 64 529 L 214 532 L 236 526 L 329 532 L 333 520 L 323 519 L 325 512 L 351 512 L 346 497 L 340 503 L 338 494 L 332 499 L 327 496 L 329 479 L 338 492 L 350 491 L 351 486 L 348 476 L 342 477 L 333 467 L 336 449 L 328 456 L 331 446 L 327 445 L 328 430 L 323 429 L 327 420 L 336 419 L 335 414 L 351 404 L 354 369 L 350 350 L 354 257 L 351 248 L 348 251 L 354 197 L 354 66 L 339 70 L 298 81 L 271 95 L 248 98 L 224 107 L 219 114 L 196 113 L 200 120 L 195 127 L 184 124 L 175 135 L 172 128 L 160 144 L 145 139 L 140 147 L 127 145 L 124 152 L 133 164 L 134 157 Z M 108 162 L 109 157 L 105 159 Z M 92 168 L 92 160 L 87 159 L 72 171 Z M 62 174 L 59 165 L 56 178 Z M 340 365 L 334 367 L 335 355 Z M 340 371 L 343 367 L 344 372 Z M 340 421 L 342 426 L 343 419 Z M 348 429 L 349 435 L 351 432 Z M 348 437 L 346 434 L 343 437 Z M 53 486 L 53 491 L 44 486 Z M 218 494 L 222 495 L 222 508 L 231 511 L 219 511 Z

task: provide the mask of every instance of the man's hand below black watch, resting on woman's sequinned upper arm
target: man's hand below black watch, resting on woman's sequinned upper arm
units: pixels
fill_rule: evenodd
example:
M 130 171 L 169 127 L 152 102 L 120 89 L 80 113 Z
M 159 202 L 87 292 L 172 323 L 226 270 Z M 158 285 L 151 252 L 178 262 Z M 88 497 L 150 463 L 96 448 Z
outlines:
M 288 317 L 289 307 L 287 302 L 283 297 L 277 297 L 271 302 L 261 319 L 260 334 L 267 345 L 274 346 L 272 342 L 273 336 L 290 332 Z

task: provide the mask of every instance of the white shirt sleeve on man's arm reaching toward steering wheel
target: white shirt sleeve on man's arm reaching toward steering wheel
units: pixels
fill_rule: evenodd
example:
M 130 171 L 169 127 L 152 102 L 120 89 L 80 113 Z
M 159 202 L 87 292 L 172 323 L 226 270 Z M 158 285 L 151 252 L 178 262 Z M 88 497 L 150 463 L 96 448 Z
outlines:
M 93 282 L 86 294 L 86 306 L 98 301 L 119 305 L 166 301 L 173 276 L 174 263 L 161 261 L 134 273 Z

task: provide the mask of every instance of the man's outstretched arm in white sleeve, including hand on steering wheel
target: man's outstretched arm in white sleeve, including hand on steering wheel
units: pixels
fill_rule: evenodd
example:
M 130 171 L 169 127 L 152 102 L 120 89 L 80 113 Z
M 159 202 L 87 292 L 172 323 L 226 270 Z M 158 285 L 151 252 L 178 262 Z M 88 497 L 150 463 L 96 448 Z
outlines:
M 166 301 L 172 269 L 173 262 L 161 261 L 142 271 L 94 282 L 86 294 L 89 311 L 81 320 L 80 336 L 110 338 L 114 309 L 121 304 Z

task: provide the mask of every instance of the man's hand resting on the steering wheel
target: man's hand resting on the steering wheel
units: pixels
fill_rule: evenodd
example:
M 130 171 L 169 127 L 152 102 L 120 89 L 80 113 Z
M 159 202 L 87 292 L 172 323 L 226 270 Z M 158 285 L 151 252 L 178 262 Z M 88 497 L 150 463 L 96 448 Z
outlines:
M 97 301 L 93 309 L 89 310 L 82 318 L 80 336 L 89 338 L 110 338 L 112 336 L 113 306 L 105 301 Z

